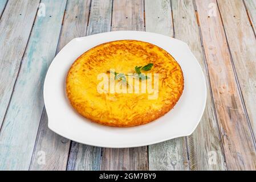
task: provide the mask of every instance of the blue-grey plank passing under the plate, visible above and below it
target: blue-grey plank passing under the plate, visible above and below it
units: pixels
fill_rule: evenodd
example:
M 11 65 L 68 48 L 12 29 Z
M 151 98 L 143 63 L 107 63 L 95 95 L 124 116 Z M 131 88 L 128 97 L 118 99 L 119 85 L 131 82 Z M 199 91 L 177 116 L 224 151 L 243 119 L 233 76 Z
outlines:
M 112 0 L 92 0 L 87 35 L 111 30 Z M 72 142 L 68 170 L 99 170 L 101 148 Z

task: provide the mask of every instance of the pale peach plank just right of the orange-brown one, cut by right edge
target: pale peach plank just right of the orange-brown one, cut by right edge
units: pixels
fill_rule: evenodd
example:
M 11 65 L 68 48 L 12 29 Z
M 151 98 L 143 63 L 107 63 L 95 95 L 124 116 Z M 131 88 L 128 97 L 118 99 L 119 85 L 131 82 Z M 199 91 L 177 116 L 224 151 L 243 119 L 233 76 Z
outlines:
M 243 2 L 218 1 L 230 52 L 254 137 L 256 135 L 256 39 Z M 229 12 L 229 13 L 227 13 Z

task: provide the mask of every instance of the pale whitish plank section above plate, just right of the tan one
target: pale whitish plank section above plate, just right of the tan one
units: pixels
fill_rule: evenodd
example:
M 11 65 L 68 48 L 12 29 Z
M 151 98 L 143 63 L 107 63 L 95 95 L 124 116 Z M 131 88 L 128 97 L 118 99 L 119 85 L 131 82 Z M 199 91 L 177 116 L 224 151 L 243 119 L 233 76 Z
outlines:
M 145 28 L 147 32 L 173 37 L 170 0 L 145 0 Z

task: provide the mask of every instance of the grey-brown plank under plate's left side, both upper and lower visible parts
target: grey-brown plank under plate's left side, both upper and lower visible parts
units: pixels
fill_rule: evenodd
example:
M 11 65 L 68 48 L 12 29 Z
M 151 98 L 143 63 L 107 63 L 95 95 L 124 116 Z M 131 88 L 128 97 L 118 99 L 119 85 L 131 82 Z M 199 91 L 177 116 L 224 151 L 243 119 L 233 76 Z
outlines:
M 64 15 L 59 46 L 56 52 L 59 52 L 70 40 L 86 35 L 89 9 L 89 0 L 67 1 L 66 14 Z M 66 170 L 71 142 L 48 129 L 47 121 L 47 115 L 43 112 L 30 169 Z M 40 165 L 42 151 L 46 160 L 45 164 Z

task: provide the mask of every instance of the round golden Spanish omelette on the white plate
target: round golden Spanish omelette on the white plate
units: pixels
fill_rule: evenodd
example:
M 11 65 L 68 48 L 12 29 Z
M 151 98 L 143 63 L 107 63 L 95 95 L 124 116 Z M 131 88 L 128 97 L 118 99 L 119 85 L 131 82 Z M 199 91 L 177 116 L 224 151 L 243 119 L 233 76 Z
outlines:
M 135 67 L 153 64 L 149 71 L 159 75 L 156 99 L 146 93 L 99 93 L 98 76 L 109 70 L 128 75 Z M 121 82 L 120 80 L 114 80 Z M 139 80 L 143 82 L 143 80 Z M 127 81 L 129 85 L 133 82 Z M 152 86 L 153 87 L 153 86 Z M 107 88 L 106 91 L 109 91 Z M 139 88 L 141 91 L 141 88 Z M 79 114 L 91 121 L 107 126 L 131 127 L 154 121 L 176 105 L 184 89 L 184 77 L 180 65 L 164 49 L 138 40 L 117 40 L 91 48 L 75 60 L 66 77 L 68 100 Z

